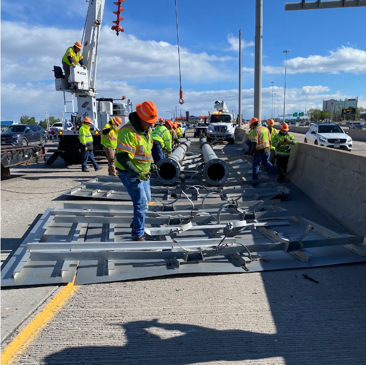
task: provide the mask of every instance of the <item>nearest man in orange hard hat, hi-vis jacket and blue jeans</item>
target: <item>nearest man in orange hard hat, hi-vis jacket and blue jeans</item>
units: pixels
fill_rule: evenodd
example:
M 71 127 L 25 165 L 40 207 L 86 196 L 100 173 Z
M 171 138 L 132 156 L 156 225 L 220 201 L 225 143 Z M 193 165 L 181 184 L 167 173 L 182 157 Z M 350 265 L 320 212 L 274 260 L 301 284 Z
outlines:
M 115 165 L 134 206 L 132 240 L 145 241 L 145 216 L 151 199 L 149 179 L 151 173 L 156 173 L 156 165 L 151 163 L 151 127 L 158 121 L 155 104 L 137 104 L 128 120 L 118 132 Z

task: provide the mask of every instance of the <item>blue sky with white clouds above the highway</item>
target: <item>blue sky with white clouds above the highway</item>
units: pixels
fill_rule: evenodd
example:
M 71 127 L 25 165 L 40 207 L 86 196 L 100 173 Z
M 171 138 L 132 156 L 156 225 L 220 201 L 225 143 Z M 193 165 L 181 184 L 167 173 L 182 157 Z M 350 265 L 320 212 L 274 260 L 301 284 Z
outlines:
M 70 5 L 69 5 L 70 4 Z M 207 115 L 215 100 L 238 113 L 238 32 L 242 30 L 243 114 L 253 113 L 255 0 L 178 0 L 182 89 L 179 75 L 174 0 L 126 0 L 125 32 L 110 30 L 113 0 L 106 0 L 99 41 L 97 89 L 100 96 L 126 95 L 134 105 L 152 100 L 162 117 Z M 359 97 L 366 106 L 366 8 L 284 11 L 285 1 L 264 0 L 262 118 L 283 107 L 284 53 L 287 58 L 286 113 L 318 107 L 323 99 Z M 1 2 L 1 118 L 37 120 L 47 110 L 60 116 L 61 92 L 54 88 L 54 65 L 66 48 L 81 40 L 88 3 L 54 0 Z M 66 8 L 66 9 L 65 9 Z M 301 106 L 300 106 L 301 103 Z M 281 107 L 279 108 L 281 109 Z M 276 113 L 276 111 L 275 111 Z M 178 111 L 179 114 L 179 111 Z

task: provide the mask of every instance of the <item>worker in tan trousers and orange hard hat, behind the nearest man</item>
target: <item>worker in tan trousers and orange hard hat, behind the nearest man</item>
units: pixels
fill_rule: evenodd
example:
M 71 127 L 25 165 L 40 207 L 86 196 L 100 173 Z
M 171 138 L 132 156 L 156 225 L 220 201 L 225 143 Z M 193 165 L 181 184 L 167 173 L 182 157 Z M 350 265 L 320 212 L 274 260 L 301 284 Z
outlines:
M 122 119 L 120 117 L 111 117 L 109 123 L 104 124 L 101 131 L 100 143 L 107 156 L 109 176 L 117 176 L 114 161 L 116 160 L 117 136 L 121 123 Z

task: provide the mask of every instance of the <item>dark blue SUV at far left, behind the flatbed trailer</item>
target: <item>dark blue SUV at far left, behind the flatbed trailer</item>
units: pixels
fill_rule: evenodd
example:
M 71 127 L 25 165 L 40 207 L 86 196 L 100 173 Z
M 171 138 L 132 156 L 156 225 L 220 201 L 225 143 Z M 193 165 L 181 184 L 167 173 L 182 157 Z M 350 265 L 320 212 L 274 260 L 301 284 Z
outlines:
M 37 124 L 14 124 L 1 133 L 2 145 L 28 146 L 47 142 L 45 130 Z

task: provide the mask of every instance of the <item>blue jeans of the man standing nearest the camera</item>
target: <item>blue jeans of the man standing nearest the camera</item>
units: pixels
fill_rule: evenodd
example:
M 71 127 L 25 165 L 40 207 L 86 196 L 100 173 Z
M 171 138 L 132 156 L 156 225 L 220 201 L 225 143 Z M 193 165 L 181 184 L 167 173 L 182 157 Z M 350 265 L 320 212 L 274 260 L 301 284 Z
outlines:
M 141 181 L 128 172 L 118 172 L 118 176 L 127 189 L 128 195 L 134 205 L 134 228 L 132 230 L 132 237 L 141 237 L 144 235 L 145 216 L 151 199 L 150 180 Z

